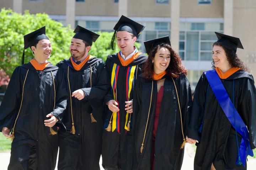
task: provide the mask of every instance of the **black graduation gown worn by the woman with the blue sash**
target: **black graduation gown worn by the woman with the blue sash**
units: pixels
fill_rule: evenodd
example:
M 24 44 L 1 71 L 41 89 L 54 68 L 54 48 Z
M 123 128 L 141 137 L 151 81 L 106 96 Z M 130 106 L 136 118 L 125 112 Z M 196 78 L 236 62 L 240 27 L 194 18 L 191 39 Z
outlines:
M 235 108 L 249 130 L 251 149 L 256 147 L 256 89 L 250 73 L 239 70 L 227 79 L 221 79 Z M 238 147 L 235 130 L 220 107 L 217 98 L 203 74 L 194 92 L 188 137 L 199 141 L 194 159 L 194 170 L 244 170 L 236 165 Z M 207 93 L 207 88 L 208 93 Z M 207 95 L 206 95 L 207 94 Z M 207 96 L 207 97 L 206 97 Z M 204 111 L 205 108 L 205 111 Z M 203 124 L 202 124 L 203 121 Z M 198 132 L 202 125 L 202 133 Z M 241 136 L 238 134 L 240 146 Z

